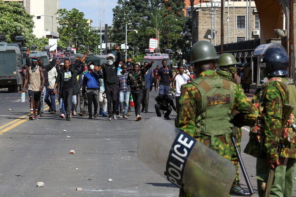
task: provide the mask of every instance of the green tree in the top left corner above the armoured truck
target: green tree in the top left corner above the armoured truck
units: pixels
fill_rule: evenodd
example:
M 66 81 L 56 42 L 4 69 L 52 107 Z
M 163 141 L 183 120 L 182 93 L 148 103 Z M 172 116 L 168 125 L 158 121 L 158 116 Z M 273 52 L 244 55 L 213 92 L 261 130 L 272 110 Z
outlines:
M 26 12 L 25 7 L 16 1 L 4 3 L 0 0 L 0 34 L 6 35 L 8 43 L 15 42 L 15 36 L 24 36 L 24 45 L 34 43 L 33 16 Z

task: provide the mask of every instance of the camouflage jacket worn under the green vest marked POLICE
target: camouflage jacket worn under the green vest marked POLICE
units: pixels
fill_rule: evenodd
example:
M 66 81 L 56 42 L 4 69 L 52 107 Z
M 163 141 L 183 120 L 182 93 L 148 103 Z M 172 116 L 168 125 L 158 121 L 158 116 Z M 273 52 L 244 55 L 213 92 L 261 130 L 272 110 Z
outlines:
M 207 77 L 218 78 L 220 76 L 218 76 L 214 70 L 207 70 L 202 72 L 199 77 L 204 77 L 206 80 Z M 176 127 L 195 137 L 198 141 L 230 160 L 230 134 L 227 134 L 227 136 L 215 136 L 213 140 L 216 145 L 211 146 L 211 137 L 199 131 L 196 118 L 201 114 L 201 97 L 202 95 L 200 95 L 198 89 L 191 82 L 182 85 L 181 98 L 179 101 L 180 112 L 177 115 Z M 256 122 L 258 110 L 253 106 L 251 101 L 248 100 L 243 90 L 236 85 L 234 86 L 234 97 L 234 102 L 229 109 L 230 114 L 234 116 L 231 121 L 234 126 L 241 127 Z M 234 114 L 235 110 L 239 113 Z M 219 125 L 217 125 L 217 127 L 219 127 Z M 196 134 L 194 135 L 194 133 Z

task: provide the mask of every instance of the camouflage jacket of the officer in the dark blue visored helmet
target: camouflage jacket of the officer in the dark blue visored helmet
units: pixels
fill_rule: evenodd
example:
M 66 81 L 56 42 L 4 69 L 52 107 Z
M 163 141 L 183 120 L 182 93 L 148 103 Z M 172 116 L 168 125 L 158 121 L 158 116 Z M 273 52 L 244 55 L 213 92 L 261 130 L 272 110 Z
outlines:
M 251 128 L 250 139 L 244 152 L 254 157 L 268 157 L 271 160 L 276 160 L 279 157 L 282 110 L 285 103 L 289 104 L 288 88 L 281 81 L 281 77 L 269 79 L 256 91 L 253 97 L 252 102 L 258 106 L 259 116 L 257 123 Z M 290 104 L 294 105 L 296 103 Z M 288 122 L 293 122 L 293 119 L 295 119 L 294 116 L 291 116 Z M 281 151 L 281 156 L 296 158 L 295 130 L 291 124 L 289 126 L 287 124 L 285 130 L 294 135 L 294 142 L 286 145 Z

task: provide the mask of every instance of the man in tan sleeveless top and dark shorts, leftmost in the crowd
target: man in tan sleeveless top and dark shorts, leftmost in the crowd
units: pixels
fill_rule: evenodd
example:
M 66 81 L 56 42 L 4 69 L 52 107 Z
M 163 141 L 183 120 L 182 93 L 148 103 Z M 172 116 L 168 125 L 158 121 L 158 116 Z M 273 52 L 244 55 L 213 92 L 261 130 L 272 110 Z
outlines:
M 30 49 L 27 50 L 27 60 L 29 60 L 29 55 L 31 54 Z M 55 56 L 54 56 L 55 59 Z M 25 88 L 28 84 L 29 88 L 29 97 L 30 97 L 30 109 L 31 115 L 29 116 L 30 120 L 37 120 L 37 110 L 41 97 L 41 89 L 44 86 L 45 80 L 43 75 L 42 67 L 37 65 L 38 58 L 32 58 L 32 66 L 27 68 L 27 75 L 25 79 L 25 83 L 23 86 L 23 92 L 26 92 Z

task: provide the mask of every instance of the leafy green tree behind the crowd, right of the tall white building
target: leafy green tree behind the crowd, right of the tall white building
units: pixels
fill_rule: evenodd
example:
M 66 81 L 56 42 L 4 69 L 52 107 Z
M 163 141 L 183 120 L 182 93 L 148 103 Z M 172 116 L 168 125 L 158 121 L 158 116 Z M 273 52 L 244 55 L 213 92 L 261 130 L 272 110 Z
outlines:
M 57 14 L 58 23 L 60 24 L 58 32 L 61 36 L 59 46 L 63 48 L 74 47 L 77 53 L 84 53 L 88 48 L 92 52 L 96 51 L 100 37 L 90 30 L 83 12 L 79 12 L 75 8 L 70 11 L 59 9 Z M 81 47 L 81 45 L 86 46 L 86 48 Z

